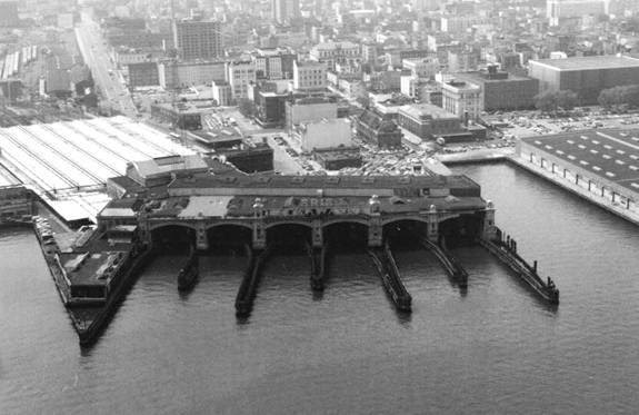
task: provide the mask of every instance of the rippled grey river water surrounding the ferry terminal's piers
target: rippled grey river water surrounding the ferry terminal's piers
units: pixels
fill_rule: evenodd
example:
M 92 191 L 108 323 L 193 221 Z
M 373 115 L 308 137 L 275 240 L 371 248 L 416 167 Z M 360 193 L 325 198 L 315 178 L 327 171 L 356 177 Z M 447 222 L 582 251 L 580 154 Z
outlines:
M 2 414 L 631 414 L 639 407 L 639 229 L 506 165 L 457 168 L 561 290 L 553 309 L 480 248 L 398 251 L 398 316 L 366 255 L 336 256 L 313 297 L 303 256 L 276 257 L 248 322 L 241 257 L 210 257 L 188 296 L 156 260 L 81 349 L 26 230 L 0 234 Z

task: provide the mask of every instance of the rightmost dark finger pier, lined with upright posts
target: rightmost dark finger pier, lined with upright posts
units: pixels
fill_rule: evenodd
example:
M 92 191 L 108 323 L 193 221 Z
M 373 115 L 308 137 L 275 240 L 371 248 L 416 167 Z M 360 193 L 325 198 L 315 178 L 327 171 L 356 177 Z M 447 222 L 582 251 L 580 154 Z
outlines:
M 509 236 L 503 239 L 501 230 L 498 230 L 495 240 L 480 238 L 479 244 L 500 261 L 508 266 L 543 300 L 551 305 L 559 304 L 559 289 L 550 277 L 543 280 L 537 274 L 537 261 L 531 266 L 517 254 L 517 241 Z

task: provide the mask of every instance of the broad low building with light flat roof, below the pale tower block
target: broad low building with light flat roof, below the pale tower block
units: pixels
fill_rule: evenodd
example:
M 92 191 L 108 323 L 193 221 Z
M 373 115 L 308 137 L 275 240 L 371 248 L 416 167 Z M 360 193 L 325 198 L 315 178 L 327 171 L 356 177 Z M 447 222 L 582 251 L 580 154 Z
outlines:
M 430 103 L 401 107 L 397 122 L 425 140 L 465 132 L 458 116 Z

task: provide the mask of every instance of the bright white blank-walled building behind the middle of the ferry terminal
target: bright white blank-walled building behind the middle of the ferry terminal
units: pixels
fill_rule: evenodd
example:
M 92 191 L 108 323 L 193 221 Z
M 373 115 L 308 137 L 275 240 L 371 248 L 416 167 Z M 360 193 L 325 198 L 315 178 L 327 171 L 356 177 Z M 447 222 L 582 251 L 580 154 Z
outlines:
M 304 152 L 352 145 L 350 121 L 346 118 L 302 122 L 293 135 Z

